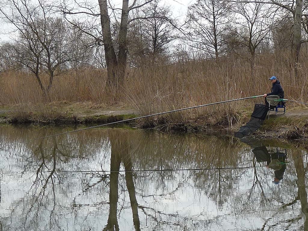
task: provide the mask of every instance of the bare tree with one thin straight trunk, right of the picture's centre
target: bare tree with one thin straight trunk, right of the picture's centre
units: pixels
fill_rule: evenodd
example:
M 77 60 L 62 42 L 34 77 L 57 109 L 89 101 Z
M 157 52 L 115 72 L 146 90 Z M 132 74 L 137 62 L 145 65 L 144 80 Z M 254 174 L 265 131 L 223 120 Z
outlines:
M 197 0 L 188 7 L 188 41 L 216 60 L 225 53 L 225 39 L 230 22 L 230 8 L 225 1 Z

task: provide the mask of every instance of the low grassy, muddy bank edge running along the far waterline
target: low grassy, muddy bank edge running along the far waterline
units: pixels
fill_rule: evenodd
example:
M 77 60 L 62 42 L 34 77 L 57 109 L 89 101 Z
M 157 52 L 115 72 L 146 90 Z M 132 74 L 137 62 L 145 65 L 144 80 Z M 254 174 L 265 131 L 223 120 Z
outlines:
M 156 129 L 164 132 L 174 133 L 205 133 L 212 135 L 233 135 L 238 129 L 245 125 L 250 116 L 242 115 L 242 120 L 235 124 L 224 123 L 210 124 L 203 119 L 192 119 L 183 123 L 170 123 L 164 118 L 158 120 L 134 120 L 136 114 L 119 115 L 57 115 L 50 118 L 39 118 L 35 116 L 14 117 L 11 113 L 0 114 L 0 125 L 5 124 L 36 124 L 36 125 L 101 125 L 115 123 L 122 120 L 120 124 L 126 124 L 131 128 Z M 308 115 L 285 116 L 271 115 L 270 119 L 264 121 L 259 130 L 252 134 L 257 138 L 282 138 L 289 140 L 308 139 Z

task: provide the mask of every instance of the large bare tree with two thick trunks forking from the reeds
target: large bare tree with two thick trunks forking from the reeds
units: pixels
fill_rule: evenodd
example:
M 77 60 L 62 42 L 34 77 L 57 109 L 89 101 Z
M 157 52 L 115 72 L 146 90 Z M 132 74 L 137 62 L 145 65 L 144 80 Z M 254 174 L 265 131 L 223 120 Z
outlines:
M 82 11 L 76 11 L 74 7 L 67 6 L 65 2 L 58 7 L 71 23 L 73 22 L 68 15 L 84 14 L 93 19 L 99 17 L 100 29 L 97 27 L 98 24 L 95 22 L 91 24 L 90 28 L 87 27 L 90 24 L 84 26 L 84 23 L 73 23 L 73 25 L 78 26 L 81 31 L 90 35 L 95 40 L 95 43 L 104 46 L 107 66 L 107 81 L 105 89 L 107 92 L 113 93 L 115 96 L 124 84 L 128 57 L 128 24 L 138 19 L 131 18 L 129 20 L 128 15 L 132 10 L 143 7 L 152 1 L 153 0 L 146 0 L 145 2 L 138 4 L 137 0 L 134 0 L 132 4 L 129 5 L 128 0 L 123 0 L 122 8 L 119 9 L 112 6 L 107 0 L 99 0 L 99 12 L 95 6 L 89 6 L 89 4 L 86 3 L 78 3 L 79 9 L 82 9 Z M 109 12 L 110 9 L 111 12 Z M 119 11 L 121 11 L 120 17 Z M 113 26 L 112 28 L 111 25 Z M 114 32 L 112 29 L 115 29 L 116 31 Z M 113 35 L 116 35 L 116 37 Z

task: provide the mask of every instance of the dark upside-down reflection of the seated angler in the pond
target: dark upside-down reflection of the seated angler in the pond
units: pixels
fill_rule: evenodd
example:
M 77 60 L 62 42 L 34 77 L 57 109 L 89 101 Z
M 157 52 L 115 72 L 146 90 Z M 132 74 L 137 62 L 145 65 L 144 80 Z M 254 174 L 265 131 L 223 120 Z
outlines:
M 266 167 L 274 169 L 274 181 L 278 184 L 283 179 L 283 174 L 286 171 L 286 153 L 285 152 L 271 152 L 269 153 Z

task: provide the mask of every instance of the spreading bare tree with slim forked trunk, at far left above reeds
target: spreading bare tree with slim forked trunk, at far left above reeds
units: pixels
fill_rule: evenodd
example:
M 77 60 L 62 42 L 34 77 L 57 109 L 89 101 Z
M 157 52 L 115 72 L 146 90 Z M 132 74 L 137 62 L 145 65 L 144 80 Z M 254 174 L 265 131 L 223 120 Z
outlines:
M 7 0 L 0 12 L 18 32 L 15 51 L 19 61 L 34 73 L 43 95 L 48 98 L 54 76 L 72 60 L 74 44 L 67 39 L 67 25 L 61 18 L 52 17 L 51 10 L 41 0 L 37 5 L 26 0 Z M 41 80 L 42 73 L 49 75 L 47 86 Z

